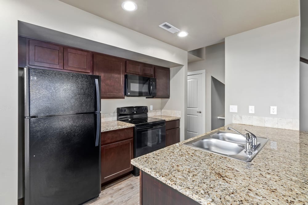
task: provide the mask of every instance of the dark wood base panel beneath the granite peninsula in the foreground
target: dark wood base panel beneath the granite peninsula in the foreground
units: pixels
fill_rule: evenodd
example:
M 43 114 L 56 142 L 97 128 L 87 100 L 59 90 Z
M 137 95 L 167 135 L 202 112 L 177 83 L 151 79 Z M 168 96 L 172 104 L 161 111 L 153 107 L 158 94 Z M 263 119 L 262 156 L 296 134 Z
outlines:
M 200 204 L 179 191 L 140 171 L 140 205 Z

